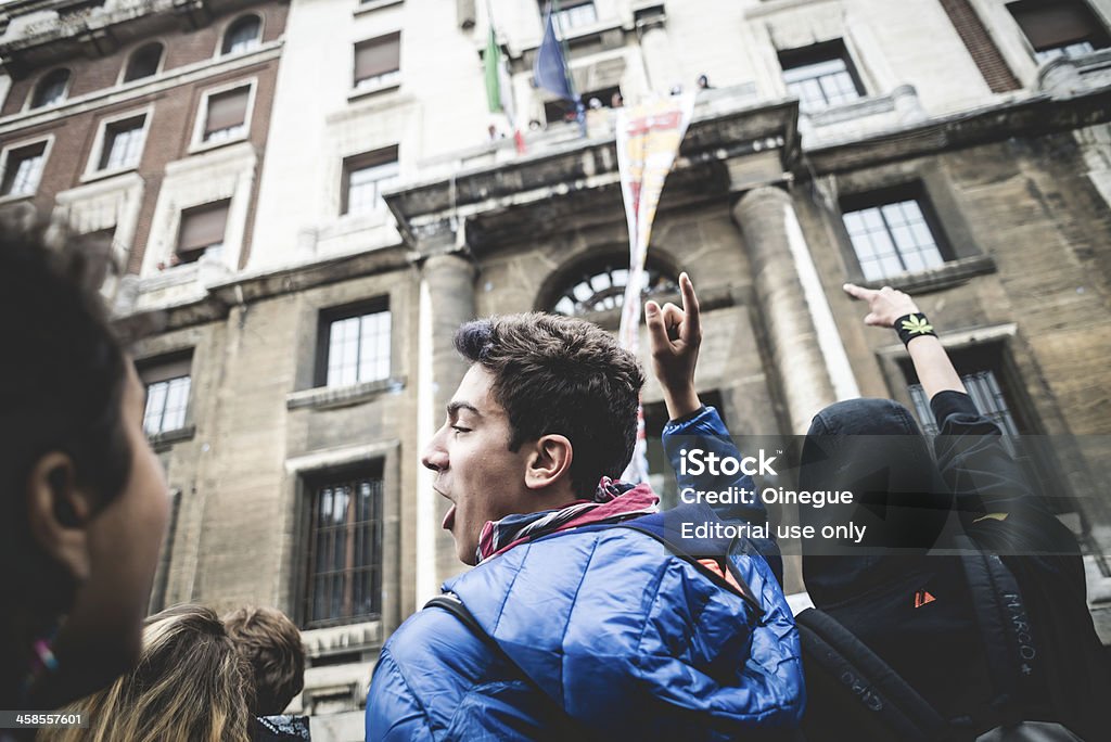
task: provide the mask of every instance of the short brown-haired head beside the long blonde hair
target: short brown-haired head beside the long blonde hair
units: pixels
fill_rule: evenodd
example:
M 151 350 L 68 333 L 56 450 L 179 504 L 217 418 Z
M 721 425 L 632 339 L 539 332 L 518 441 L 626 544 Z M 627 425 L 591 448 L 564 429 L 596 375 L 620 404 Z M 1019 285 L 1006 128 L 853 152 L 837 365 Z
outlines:
M 272 608 L 241 608 L 223 618 L 228 635 L 254 670 L 257 716 L 282 713 L 304 688 L 301 632 Z

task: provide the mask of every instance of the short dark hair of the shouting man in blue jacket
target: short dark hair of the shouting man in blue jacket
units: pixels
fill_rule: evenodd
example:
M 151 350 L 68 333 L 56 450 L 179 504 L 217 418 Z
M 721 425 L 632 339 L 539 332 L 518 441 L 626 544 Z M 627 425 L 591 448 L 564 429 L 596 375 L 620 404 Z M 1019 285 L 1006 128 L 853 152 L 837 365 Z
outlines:
M 632 458 L 644 374 L 632 353 L 584 320 L 532 312 L 468 322 L 456 349 L 493 375 L 511 451 L 551 433 L 574 449 L 571 485 L 590 498 Z

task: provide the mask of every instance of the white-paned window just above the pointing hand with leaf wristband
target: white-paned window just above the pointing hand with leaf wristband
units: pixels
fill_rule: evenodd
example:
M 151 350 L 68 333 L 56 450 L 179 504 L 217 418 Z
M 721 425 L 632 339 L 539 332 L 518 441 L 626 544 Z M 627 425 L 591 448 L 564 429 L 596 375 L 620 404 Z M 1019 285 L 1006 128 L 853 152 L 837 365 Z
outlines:
M 842 202 L 841 219 L 865 281 L 938 268 L 950 259 L 918 189 L 854 197 Z

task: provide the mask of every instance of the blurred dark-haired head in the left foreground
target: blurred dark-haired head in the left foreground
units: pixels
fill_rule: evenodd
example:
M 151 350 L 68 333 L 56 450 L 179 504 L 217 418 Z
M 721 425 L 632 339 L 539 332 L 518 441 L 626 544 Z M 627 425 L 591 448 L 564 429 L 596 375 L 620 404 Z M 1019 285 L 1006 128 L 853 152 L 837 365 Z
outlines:
M 0 701 L 57 705 L 133 663 L 169 515 L 143 389 L 98 288 L 108 245 L 0 219 Z

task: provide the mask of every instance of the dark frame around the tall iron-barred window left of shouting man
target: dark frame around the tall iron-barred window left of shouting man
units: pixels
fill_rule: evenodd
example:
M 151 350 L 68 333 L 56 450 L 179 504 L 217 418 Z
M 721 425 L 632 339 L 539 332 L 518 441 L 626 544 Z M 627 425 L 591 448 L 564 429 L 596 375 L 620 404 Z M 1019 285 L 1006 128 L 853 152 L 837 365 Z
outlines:
M 302 630 L 313 630 L 313 629 L 327 629 L 332 626 L 342 626 L 358 623 L 368 622 L 381 622 L 387 615 L 388 610 L 388 598 L 387 598 L 387 586 L 390 582 L 390 576 L 387 574 L 387 555 L 389 552 L 387 541 L 390 535 L 388 531 L 390 530 L 390 519 L 388 513 L 391 509 L 390 499 L 392 497 L 392 491 L 389 482 L 388 472 L 391 469 L 389 454 L 382 455 L 379 453 L 370 458 L 369 460 L 363 460 L 358 463 L 348 463 L 346 465 L 339 465 L 328 469 L 318 469 L 313 471 L 301 472 L 300 489 L 301 489 L 301 522 L 302 522 L 302 540 L 300 548 L 299 563 L 297 563 L 297 576 L 298 589 L 296 592 L 296 605 L 294 611 L 296 620 L 298 625 Z M 377 522 L 377 533 L 372 534 L 376 543 L 373 543 L 371 552 L 370 565 L 354 566 L 352 570 L 367 570 L 368 573 L 378 569 L 379 580 L 378 580 L 378 591 L 372 593 L 371 600 L 377 600 L 377 612 L 371 611 L 369 613 L 358 613 L 340 616 L 329 616 L 324 619 L 314 619 L 313 608 L 314 608 L 314 593 L 316 593 L 316 545 L 317 535 L 319 530 L 314 528 L 316 512 L 318 508 L 319 498 L 322 491 L 329 487 L 338 487 L 347 484 L 353 481 L 370 480 L 377 481 L 379 483 L 378 488 L 378 507 L 376 509 L 371 508 L 371 512 L 377 512 L 377 521 L 371 519 L 371 523 Z M 349 504 L 349 508 L 351 505 Z M 358 522 L 348 524 L 348 528 L 357 525 Z M 371 528 L 374 528 L 373 525 Z M 377 556 L 377 559 L 376 559 Z M 377 565 L 377 566 L 376 566 Z M 343 570 L 348 572 L 349 570 Z M 358 572 L 354 572 L 358 574 Z M 372 581 L 366 581 L 367 586 L 373 584 Z M 341 581 L 341 586 L 346 584 Z M 352 580 L 349 584 L 354 584 Z M 372 592 L 372 591 L 371 591 Z M 372 603 L 373 605 L 373 603 Z M 353 605 L 352 605 L 353 608 Z M 342 613 L 342 611 L 341 611 Z

